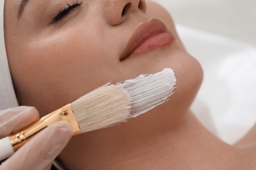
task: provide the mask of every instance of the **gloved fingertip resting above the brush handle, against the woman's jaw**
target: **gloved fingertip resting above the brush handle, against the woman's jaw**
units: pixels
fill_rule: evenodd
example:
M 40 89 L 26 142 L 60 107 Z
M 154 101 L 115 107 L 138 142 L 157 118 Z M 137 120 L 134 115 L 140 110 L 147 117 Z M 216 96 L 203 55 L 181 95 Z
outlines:
M 0 111 L 0 138 L 32 124 L 39 118 L 34 107 L 15 107 Z

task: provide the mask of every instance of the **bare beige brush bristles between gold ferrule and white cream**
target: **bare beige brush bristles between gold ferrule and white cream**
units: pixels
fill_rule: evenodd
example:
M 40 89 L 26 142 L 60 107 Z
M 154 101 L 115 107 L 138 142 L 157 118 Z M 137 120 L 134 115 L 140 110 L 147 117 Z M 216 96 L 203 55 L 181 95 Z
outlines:
M 71 103 L 81 131 L 93 131 L 125 122 L 131 99 L 120 86 L 102 86 Z

